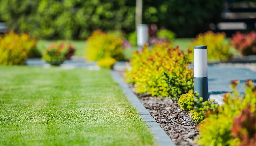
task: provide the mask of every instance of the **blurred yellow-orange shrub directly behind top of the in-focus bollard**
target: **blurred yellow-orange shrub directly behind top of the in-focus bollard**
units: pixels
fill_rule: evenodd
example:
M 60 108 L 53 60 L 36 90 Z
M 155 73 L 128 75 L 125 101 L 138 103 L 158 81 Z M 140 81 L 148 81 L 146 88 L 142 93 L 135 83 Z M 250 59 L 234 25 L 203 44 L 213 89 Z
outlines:
M 207 33 L 200 33 L 195 40 L 192 41 L 188 50 L 193 51 L 194 46 L 206 45 L 208 51 L 208 60 L 228 60 L 232 57 L 229 51 L 230 45 L 225 43 L 225 33 L 214 33 L 208 31 Z M 189 56 L 193 60 L 193 53 Z

